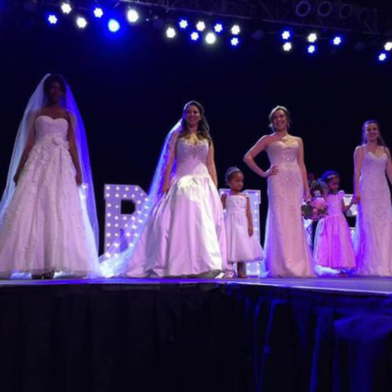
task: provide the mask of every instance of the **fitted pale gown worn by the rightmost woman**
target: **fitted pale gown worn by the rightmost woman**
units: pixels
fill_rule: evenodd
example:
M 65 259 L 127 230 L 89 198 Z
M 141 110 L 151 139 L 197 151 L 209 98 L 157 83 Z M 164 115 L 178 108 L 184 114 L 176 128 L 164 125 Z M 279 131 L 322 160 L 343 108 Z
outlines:
M 364 148 L 354 249 L 361 275 L 392 275 L 392 205 L 385 176 L 387 155 Z

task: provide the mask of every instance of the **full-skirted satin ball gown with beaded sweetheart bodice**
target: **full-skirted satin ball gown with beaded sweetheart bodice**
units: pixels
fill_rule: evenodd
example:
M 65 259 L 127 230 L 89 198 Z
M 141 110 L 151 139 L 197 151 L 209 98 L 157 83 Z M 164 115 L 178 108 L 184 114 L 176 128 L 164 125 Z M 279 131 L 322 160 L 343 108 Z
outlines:
M 206 166 L 208 150 L 207 140 L 177 140 L 175 179 L 140 235 L 128 277 L 228 272 L 223 208 Z

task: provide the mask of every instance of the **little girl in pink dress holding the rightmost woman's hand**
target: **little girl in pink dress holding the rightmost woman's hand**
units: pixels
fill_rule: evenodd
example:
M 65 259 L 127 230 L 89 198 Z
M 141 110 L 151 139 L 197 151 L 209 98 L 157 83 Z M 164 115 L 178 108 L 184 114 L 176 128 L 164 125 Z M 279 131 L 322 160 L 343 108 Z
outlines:
M 328 214 L 317 224 L 314 239 L 314 261 L 317 266 L 335 269 L 337 272 L 355 268 L 354 247 L 350 228 L 344 213 L 353 205 L 345 205 L 344 191 L 339 191 L 340 176 L 336 171 L 328 170 L 322 176 L 325 184 L 324 198 L 328 205 Z M 323 271 L 323 268 L 316 268 Z

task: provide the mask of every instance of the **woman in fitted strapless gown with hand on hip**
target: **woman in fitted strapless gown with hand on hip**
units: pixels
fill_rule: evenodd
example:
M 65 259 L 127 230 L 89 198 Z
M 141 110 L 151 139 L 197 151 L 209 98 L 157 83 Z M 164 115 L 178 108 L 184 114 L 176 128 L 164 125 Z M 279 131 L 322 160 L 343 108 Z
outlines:
M 269 276 L 310 277 L 312 257 L 303 226 L 302 201 L 310 199 L 302 140 L 288 134 L 290 113 L 277 106 L 269 114 L 271 135 L 263 136 L 244 161 L 268 181 L 268 214 L 264 252 Z M 262 151 L 271 167 L 263 171 L 254 161 Z

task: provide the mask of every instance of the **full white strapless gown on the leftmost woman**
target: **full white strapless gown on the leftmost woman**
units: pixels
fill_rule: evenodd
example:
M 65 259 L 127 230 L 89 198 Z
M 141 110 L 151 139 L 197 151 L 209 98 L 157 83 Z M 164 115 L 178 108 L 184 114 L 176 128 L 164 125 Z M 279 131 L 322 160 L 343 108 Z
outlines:
M 91 226 L 83 218 L 68 121 L 39 115 L 35 143 L 0 227 L 0 274 L 99 272 Z

